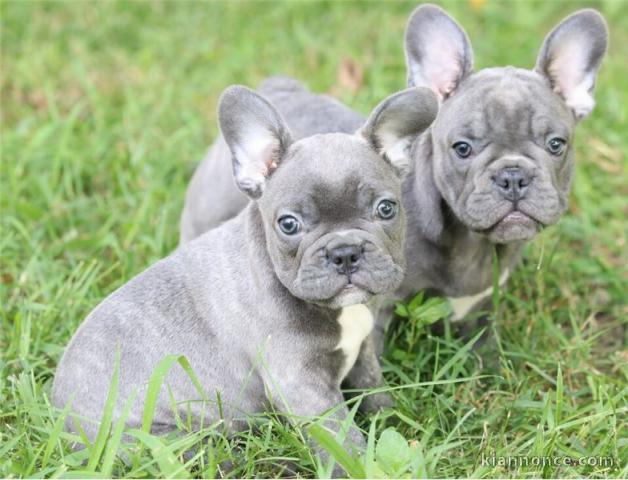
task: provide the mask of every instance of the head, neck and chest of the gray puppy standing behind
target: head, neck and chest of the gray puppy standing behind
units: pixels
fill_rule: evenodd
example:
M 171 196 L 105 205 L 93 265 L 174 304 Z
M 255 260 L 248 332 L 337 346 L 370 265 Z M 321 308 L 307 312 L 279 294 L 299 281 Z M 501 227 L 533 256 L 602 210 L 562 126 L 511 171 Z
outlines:
M 441 110 L 412 148 L 408 266 L 397 294 L 450 297 L 462 319 L 490 298 L 493 249 L 504 283 L 524 242 L 558 221 L 574 129 L 593 108 L 607 38 L 603 17 L 581 10 L 547 36 L 533 70 L 473 72 L 458 23 L 433 5 L 415 10 L 405 34 L 408 85 L 434 91 Z

